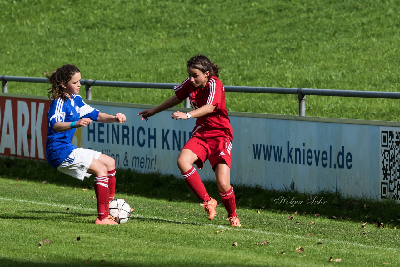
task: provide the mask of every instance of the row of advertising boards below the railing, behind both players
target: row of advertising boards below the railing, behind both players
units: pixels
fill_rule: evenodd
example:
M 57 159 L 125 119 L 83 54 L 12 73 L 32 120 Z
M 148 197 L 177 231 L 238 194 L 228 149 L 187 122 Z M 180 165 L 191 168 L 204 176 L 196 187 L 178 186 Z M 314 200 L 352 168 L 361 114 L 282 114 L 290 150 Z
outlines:
M 78 128 L 75 145 L 113 157 L 117 168 L 180 177 L 176 158 L 195 119 L 172 120 L 172 110 L 166 110 L 142 121 L 136 114 L 149 106 L 86 102 L 108 114 L 122 112 L 127 121 Z M 47 118 L 41 112 L 47 112 L 49 103 L 44 98 L 2 94 L 0 155 L 44 159 Z M 398 122 L 229 115 L 234 129 L 232 184 L 400 199 Z M 199 174 L 203 179 L 215 177 L 208 162 Z

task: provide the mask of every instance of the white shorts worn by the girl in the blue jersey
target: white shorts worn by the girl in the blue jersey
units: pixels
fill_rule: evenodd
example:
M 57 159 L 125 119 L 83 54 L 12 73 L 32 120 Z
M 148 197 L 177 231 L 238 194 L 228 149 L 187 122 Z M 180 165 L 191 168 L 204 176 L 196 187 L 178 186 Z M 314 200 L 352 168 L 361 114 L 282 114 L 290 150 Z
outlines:
M 76 179 L 82 180 L 89 177 L 91 174 L 87 173 L 93 159 L 98 159 L 101 152 L 78 148 L 74 149 L 71 154 L 58 166 L 57 170 L 68 174 Z

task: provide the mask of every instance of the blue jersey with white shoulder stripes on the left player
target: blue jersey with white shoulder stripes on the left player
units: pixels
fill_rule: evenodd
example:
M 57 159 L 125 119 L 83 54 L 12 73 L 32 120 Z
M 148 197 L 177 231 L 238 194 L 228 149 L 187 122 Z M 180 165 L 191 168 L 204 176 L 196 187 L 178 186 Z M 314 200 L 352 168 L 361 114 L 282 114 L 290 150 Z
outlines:
M 72 145 L 72 137 L 76 128 L 65 132 L 54 132 L 56 122 L 74 122 L 80 118 L 90 118 L 96 121 L 99 111 L 92 108 L 82 100 L 79 94 L 72 94 L 72 99 L 64 102 L 61 98 L 52 100 L 47 112 L 47 140 L 46 157 L 47 161 L 54 168 L 57 167 L 76 149 Z

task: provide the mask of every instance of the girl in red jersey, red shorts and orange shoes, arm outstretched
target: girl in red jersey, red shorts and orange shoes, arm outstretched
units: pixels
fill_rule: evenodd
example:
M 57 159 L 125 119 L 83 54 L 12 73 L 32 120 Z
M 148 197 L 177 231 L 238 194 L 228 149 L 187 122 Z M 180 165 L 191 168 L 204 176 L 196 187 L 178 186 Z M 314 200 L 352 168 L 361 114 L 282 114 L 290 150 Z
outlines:
M 204 166 L 208 159 L 215 171 L 222 203 L 228 211 L 228 221 L 232 226 L 240 227 L 236 214 L 235 193 L 230 185 L 230 163 L 232 149 L 232 126 L 225 107 L 225 90 L 218 79 L 220 68 L 206 56 L 197 55 L 188 62 L 189 78 L 174 87 L 175 95 L 159 106 L 143 110 L 138 114 L 142 120 L 154 114 L 178 105 L 186 98 L 194 110 L 190 112 L 176 111 L 172 119 L 196 119 L 192 137 L 184 145 L 178 155 L 178 167 L 186 184 L 204 203 L 204 209 L 211 220 L 216 215 L 217 201 L 210 197 L 196 169 Z

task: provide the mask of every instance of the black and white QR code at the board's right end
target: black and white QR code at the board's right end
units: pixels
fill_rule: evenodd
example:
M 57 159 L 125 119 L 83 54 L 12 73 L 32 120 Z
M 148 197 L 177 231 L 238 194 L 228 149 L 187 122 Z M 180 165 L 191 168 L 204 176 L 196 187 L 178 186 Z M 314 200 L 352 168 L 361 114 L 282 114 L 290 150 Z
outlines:
M 382 130 L 380 137 L 381 198 L 400 200 L 400 131 Z

